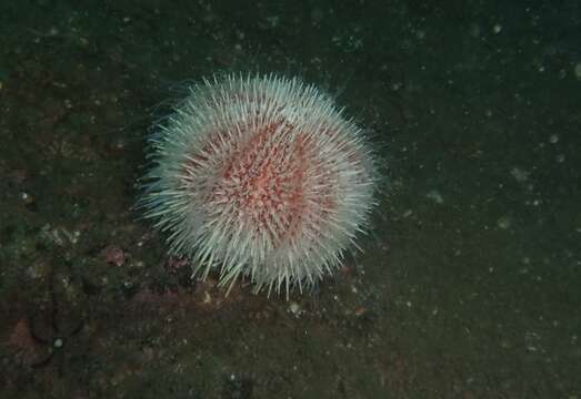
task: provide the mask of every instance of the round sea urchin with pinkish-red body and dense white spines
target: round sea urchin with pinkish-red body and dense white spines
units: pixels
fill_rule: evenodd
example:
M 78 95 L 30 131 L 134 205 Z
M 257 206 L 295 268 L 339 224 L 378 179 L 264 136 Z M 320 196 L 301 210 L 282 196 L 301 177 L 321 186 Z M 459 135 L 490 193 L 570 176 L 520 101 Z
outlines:
M 299 79 L 227 75 L 190 88 L 150 137 L 139 206 L 193 275 L 219 269 L 301 291 L 355 247 L 374 205 L 362 131 Z

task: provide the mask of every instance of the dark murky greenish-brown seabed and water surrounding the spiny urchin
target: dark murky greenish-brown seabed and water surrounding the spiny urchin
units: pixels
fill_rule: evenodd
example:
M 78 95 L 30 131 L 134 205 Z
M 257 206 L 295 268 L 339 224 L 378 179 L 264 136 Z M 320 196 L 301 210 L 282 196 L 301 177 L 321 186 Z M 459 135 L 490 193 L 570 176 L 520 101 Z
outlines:
M 2 1 L 2 398 L 581 398 L 581 3 Z M 131 207 L 188 81 L 300 75 L 387 165 L 289 301 L 189 279 Z

